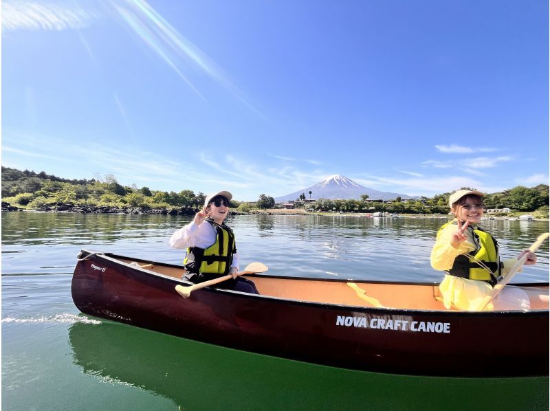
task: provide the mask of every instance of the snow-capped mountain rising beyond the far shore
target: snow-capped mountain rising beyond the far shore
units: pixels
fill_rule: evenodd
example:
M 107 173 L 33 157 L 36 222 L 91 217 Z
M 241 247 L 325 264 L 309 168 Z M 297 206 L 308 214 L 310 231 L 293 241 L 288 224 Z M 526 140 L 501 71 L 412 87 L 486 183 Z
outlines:
M 309 192 L 311 191 L 311 199 L 361 199 L 361 195 L 369 195 L 371 200 L 393 200 L 395 197 L 401 197 L 401 199 L 412 199 L 412 197 L 406 194 L 399 194 L 397 192 L 378 191 L 373 188 L 360 186 L 355 181 L 344 177 L 340 174 L 335 174 L 327 177 L 323 181 L 318 182 L 315 186 L 304 188 L 290 194 L 276 197 L 275 201 L 289 201 L 296 200 L 302 193 L 305 194 L 305 198 L 309 199 Z

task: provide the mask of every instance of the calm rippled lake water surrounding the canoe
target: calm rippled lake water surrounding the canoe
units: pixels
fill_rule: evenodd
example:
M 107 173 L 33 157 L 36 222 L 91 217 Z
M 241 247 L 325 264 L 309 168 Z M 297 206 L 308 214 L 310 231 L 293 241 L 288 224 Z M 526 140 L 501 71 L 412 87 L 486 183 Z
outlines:
M 2 213 L 3 410 L 548 410 L 548 377 L 458 379 L 365 373 L 244 353 L 79 313 L 80 249 L 180 264 L 183 216 Z M 430 267 L 446 219 L 234 216 L 241 267 L 270 274 L 439 281 Z M 486 221 L 503 258 L 548 222 Z M 549 280 L 548 243 L 514 282 Z M 483 343 L 483 342 L 481 342 Z M 505 342 L 503 342 L 505 344 Z M 489 347 L 487 347 L 489 349 Z M 452 366 L 452 358 L 447 359 Z M 483 366 L 483 359 L 472 359 Z

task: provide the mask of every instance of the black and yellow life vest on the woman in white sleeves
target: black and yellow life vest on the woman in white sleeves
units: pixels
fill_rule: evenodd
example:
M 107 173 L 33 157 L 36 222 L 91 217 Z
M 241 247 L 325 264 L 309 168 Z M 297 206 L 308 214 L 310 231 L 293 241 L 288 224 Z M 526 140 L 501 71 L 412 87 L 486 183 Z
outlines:
M 189 247 L 184 266 L 189 273 L 228 274 L 236 252 L 235 236 L 227 225 L 205 221 L 216 229 L 216 242 L 208 248 Z

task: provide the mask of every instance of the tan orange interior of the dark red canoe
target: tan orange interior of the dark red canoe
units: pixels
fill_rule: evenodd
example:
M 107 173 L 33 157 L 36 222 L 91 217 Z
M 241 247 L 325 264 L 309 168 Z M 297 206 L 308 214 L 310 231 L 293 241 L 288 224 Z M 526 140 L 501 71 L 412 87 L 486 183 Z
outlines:
M 139 266 L 145 271 L 181 279 L 185 274 L 183 267 L 152 263 L 144 260 L 132 260 L 120 256 L 109 255 L 122 263 Z M 256 288 L 263 296 L 299 300 L 305 302 L 321 302 L 327 304 L 351 305 L 359 307 L 376 307 L 377 300 L 383 307 L 395 309 L 415 309 L 426 311 L 445 310 L 441 302 L 439 284 L 437 283 L 404 283 L 375 282 L 353 280 L 355 285 L 364 291 L 369 298 L 361 298 L 355 289 L 348 285 L 347 280 L 332 280 L 320 278 L 290 278 L 256 274 L 245 276 L 253 280 Z M 548 283 L 540 285 L 518 285 L 528 289 L 537 289 L 548 293 Z

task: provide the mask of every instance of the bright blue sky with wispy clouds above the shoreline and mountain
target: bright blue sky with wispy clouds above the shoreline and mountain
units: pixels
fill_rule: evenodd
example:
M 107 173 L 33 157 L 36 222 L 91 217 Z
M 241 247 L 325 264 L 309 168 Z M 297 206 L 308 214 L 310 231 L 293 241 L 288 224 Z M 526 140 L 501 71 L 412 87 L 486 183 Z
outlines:
M 2 1 L 2 165 L 277 197 L 549 182 L 542 0 Z

